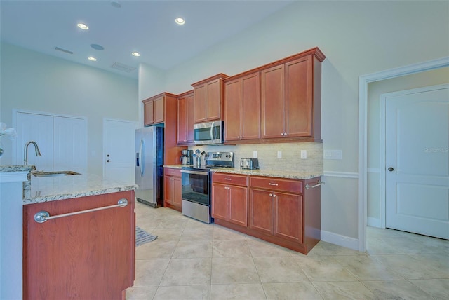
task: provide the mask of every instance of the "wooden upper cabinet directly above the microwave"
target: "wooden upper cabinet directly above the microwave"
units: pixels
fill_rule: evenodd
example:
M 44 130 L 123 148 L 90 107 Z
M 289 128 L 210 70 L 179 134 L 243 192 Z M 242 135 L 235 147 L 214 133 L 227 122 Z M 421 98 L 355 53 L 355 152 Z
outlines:
M 223 114 L 223 84 L 225 74 L 217 74 L 193 83 L 194 123 L 221 120 Z

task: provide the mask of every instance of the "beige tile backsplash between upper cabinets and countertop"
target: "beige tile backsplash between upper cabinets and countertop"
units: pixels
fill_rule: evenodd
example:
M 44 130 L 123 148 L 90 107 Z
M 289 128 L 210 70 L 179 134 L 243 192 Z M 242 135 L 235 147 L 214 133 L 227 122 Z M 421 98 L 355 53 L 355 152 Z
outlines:
M 264 170 L 323 172 L 323 143 L 320 142 L 190 146 L 189 149 L 232 151 L 236 168 L 239 168 L 240 158 L 253 158 L 253 151 L 256 150 L 260 168 Z M 301 150 L 307 151 L 306 159 L 301 159 Z M 281 151 L 282 158 L 277 157 L 278 151 Z

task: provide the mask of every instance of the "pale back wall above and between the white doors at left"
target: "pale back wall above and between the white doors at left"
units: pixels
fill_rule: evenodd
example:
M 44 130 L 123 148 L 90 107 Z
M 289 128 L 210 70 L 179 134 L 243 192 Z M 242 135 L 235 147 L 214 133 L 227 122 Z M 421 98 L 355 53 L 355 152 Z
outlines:
M 0 120 L 12 126 L 13 109 L 86 117 L 88 172 L 102 175 L 103 118 L 138 121 L 138 81 L 6 43 L 0 57 Z M 15 163 L 2 143 L 0 164 Z

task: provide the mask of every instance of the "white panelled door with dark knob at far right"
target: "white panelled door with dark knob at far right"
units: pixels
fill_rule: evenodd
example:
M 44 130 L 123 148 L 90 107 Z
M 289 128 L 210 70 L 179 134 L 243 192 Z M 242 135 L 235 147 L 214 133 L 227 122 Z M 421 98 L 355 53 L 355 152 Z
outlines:
M 386 227 L 449 239 L 449 86 L 384 101 Z

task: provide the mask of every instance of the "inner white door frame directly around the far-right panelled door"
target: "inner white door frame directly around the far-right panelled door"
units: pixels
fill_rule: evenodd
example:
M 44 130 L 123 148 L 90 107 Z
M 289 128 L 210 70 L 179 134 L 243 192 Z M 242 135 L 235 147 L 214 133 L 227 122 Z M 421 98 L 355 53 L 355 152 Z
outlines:
M 386 214 L 387 214 L 387 195 L 385 191 L 385 186 L 387 185 L 386 180 L 386 171 L 385 171 L 385 156 L 387 151 L 387 143 L 385 142 L 385 138 L 387 137 L 387 130 L 386 128 L 386 117 L 385 114 L 387 111 L 386 105 L 387 105 L 387 97 L 394 97 L 394 96 L 402 96 L 402 95 L 410 95 L 410 94 L 417 94 L 422 92 L 428 92 L 431 90 L 441 90 L 443 88 L 449 88 L 448 83 L 443 84 L 437 84 L 434 86 L 424 86 L 422 88 L 411 88 L 409 90 L 398 90 L 396 92 L 391 93 L 382 93 L 380 95 L 380 228 L 386 228 L 387 220 L 386 220 Z

